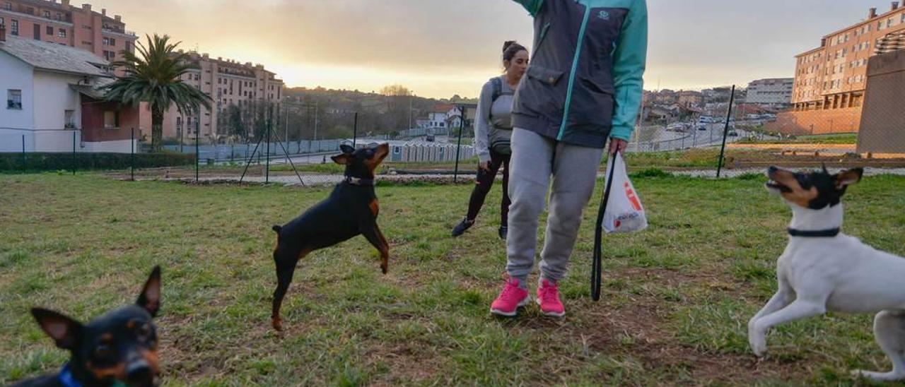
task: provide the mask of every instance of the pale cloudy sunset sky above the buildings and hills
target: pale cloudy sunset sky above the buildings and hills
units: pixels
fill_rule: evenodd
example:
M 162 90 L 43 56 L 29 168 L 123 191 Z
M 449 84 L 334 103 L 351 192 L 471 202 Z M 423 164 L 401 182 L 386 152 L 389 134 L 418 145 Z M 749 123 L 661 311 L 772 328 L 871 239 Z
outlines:
M 502 71 L 502 42 L 530 47 L 511 0 L 83 0 L 129 31 L 166 33 L 186 50 L 262 63 L 289 87 L 475 97 Z M 565 1 L 565 0 L 548 0 Z M 648 0 L 645 89 L 700 90 L 791 78 L 795 54 L 880 13 L 878 0 Z

